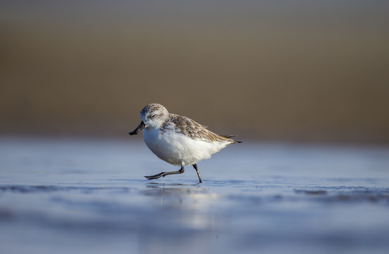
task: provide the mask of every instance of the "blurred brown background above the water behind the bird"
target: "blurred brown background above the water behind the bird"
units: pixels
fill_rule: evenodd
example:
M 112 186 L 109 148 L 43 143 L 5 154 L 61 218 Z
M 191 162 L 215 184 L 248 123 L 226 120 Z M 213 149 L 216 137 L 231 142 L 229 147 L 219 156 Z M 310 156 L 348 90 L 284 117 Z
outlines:
M 389 143 L 388 1 L 1 1 L 0 131 Z

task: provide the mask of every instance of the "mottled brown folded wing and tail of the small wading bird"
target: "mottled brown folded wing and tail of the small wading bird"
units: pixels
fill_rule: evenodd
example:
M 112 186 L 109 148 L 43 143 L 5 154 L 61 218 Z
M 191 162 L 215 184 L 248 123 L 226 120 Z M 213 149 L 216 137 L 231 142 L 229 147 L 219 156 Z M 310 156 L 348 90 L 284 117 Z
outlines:
M 201 124 L 187 118 L 186 116 L 179 116 L 176 114 L 170 114 L 170 122 L 175 125 L 175 131 L 189 136 L 194 140 L 207 140 L 210 142 L 231 142 L 238 143 L 231 139 L 233 136 L 223 136 L 213 133 Z

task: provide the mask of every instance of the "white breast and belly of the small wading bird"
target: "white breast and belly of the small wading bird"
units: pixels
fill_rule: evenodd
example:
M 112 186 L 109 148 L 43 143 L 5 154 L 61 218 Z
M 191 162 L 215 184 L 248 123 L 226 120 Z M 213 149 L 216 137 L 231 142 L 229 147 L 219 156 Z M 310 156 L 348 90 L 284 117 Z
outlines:
M 181 133 L 168 131 L 160 134 L 158 130 L 143 131 L 144 143 L 158 156 L 173 165 L 191 165 L 202 159 L 209 159 L 215 152 L 219 152 L 229 143 L 207 142 L 203 140 L 193 140 Z

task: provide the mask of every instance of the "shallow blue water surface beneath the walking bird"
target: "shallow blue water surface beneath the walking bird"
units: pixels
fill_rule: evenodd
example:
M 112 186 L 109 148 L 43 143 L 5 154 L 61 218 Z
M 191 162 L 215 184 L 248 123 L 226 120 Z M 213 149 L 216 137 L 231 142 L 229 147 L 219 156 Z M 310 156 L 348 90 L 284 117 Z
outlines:
M 135 140 L 135 141 L 134 141 Z M 1 253 L 388 253 L 389 147 L 0 138 Z

